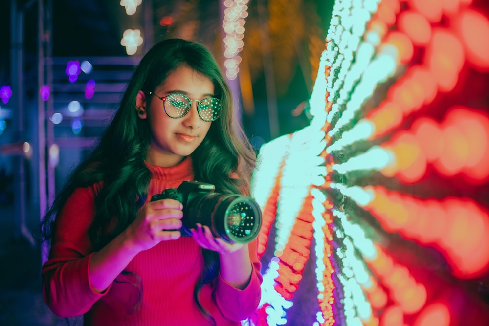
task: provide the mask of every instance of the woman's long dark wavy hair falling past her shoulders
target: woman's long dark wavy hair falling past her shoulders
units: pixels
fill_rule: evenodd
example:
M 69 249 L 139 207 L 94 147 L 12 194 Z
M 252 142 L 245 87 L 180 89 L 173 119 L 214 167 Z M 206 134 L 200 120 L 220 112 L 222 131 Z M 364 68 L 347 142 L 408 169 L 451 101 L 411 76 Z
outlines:
M 147 198 L 151 172 L 146 167 L 150 129 L 147 119 L 139 119 L 135 109 L 140 90 L 154 91 L 179 66 L 186 65 L 208 77 L 215 96 L 221 100 L 221 115 L 212 122 L 200 146 L 191 154 L 195 179 L 212 183 L 220 193 L 249 193 L 250 175 L 256 156 L 240 124 L 236 123 L 232 94 L 219 65 L 201 44 L 169 39 L 154 45 L 137 65 L 126 87 L 119 109 L 90 155 L 70 174 L 41 223 L 41 235 L 47 241 L 55 229 L 55 219 L 77 187 L 103 182 L 95 197 L 95 217 L 89 230 L 94 250 L 99 250 L 119 235 L 136 217 Z M 148 97 L 147 101 L 151 101 Z M 150 103 L 147 103 L 149 106 Z M 238 174 L 238 178 L 231 174 Z M 110 223 L 116 216 L 115 227 Z M 110 227 L 109 227 L 110 226 Z M 216 252 L 202 249 L 204 269 L 194 299 L 205 283 L 211 283 L 219 271 Z

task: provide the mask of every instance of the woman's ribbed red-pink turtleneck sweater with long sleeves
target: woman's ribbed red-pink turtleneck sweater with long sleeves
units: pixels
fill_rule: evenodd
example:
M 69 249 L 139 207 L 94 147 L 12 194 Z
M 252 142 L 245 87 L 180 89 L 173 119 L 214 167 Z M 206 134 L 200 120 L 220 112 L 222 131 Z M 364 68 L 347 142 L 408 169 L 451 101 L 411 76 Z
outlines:
M 152 173 L 151 196 L 193 180 L 191 159 L 163 168 L 146 163 Z M 60 317 L 84 315 L 90 326 L 210 325 L 194 302 L 193 291 L 203 268 L 201 247 L 191 237 L 162 241 L 137 254 L 126 267 L 133 274 L 119 274 L 109 288 L 97 293 L 90 286 L 89 262 L 93 245 L 88 230 L 94 216 L 98 185 L 78 188 L 58 217 L 49 260 L 42 268 L 44 300 Z M 200 303 L 218 326 L 237 326 L 248 318 L 260 301 L 260 261 L 256 241 L 248 244 L 253 265 L 244 290 L 226 283 L 221 275 L 200 292 Z M 138 278 L 142 281 L 139 284 Z M 215 288 L 215 300 L 212 291 Z M 142 301 L 138 304 L 139 291 Z

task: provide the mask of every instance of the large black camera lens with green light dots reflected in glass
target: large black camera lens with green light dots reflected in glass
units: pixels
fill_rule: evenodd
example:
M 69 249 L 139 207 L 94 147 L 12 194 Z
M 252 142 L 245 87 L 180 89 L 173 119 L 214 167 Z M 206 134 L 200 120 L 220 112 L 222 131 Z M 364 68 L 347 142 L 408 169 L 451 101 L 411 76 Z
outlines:
M 213 234 L 227 242 L 247 243 L 258 236 L 262 214 L 258 204 L 240 195 L 211 193 L 188 203 L 189 226 L 207 225 Z

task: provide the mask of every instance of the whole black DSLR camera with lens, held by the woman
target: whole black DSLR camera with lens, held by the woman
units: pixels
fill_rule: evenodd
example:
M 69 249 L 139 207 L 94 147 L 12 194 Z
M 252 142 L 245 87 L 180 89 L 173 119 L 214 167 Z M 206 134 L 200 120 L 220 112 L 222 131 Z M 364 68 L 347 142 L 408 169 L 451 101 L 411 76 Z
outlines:
M 183 205 L 182 236 L 191 236 L 197 223 L 207 225 L 214 237 L 229 243 L 247 243 L 258 236 L 262 212 L 251 198 L 215 193 L 215 186 L 199 181 L 183 181 L 151 197 L 151 201 L 171 198 Z

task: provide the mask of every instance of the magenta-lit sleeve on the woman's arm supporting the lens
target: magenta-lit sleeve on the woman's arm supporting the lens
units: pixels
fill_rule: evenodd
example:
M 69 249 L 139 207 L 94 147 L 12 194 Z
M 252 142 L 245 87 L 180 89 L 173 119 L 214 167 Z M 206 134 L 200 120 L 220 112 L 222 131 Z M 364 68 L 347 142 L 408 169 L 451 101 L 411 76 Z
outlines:
M 255 312 L 261 299 L 262 274 L 261 263 L 258 260 L 257 240 L 248 243 L 248 251 L 253 270 L 251 278 L 243 290 L 237 289 L 224 281 L 219 274 L 216 286 L 216 303 L 224 317 L 239 322 Z

